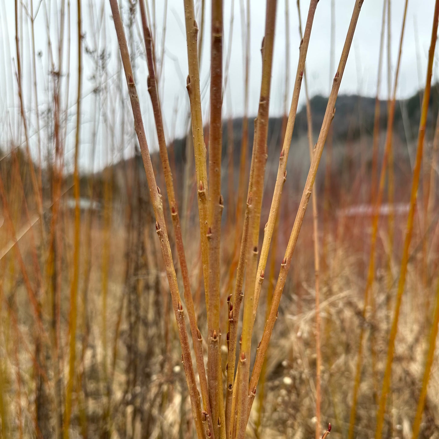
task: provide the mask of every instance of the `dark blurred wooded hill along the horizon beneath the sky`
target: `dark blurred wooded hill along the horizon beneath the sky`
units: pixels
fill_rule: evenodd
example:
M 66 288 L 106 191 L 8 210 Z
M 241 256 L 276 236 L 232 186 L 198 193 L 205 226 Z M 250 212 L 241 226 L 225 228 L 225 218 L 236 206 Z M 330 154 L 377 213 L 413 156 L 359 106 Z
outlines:
M 414 148 L 417 138 L 417 130 L 421 112 L 421 99 L 422 91 L 414 94 L 408 99 L 397 101 L 396 113 L 394 122 L 394 151 L 395 151 L 395 163 L 396 163 L 396 183 L 399 176 L 401 181 L 407 181 L 407 173 L 411 172 L 410 158 L 414 157 Z M 311 99 L 311 110 L 313 117 L 313 135 L 314 142 L 317 141 L 317 136 L 320 131 L 320 126 L 323 121 L 324 112 L 327 106 L 327 97 L 314 96 Z M 374 112 L 375 112 L 375 99 L 373 97 L 364 97 L 360 95 L 339 95 L 335 105 L 335 117 L 332 122 L 333 129 L 333 158 L 331 173 L 335 176 L 345 176 L 345 183 L 352 182 L 355 170 L 360 169 L 360 166 L 365 166 L 366 171 L 371 168 L 371 138 L 374 128 Z M 430 105 L 428 111 L 428 123 L 426 132 L 426 141 L 432 139 L 435 129 L 435 121 L 439 110 L 439 84 L 435 84 L 432 87 L 432 93 L 430 97 Z M 242 141 L 242 118 L 236 118 L 231 121 L 233 126 L 233 168 L 234 175 L 228 176 L 228 165 L 226 160 L 223 160 L 223 185 L 227 185 L 227 181 L 231 181 L 237 185 L 237 175 L 239 168 L 239 157 L 241 151 Z M 228 147 L 228 123 L 227 119 L 223 121 L 223 157 L 225 157 Z M 380 101 L 380 129 L 381 140 L 380 148 L 382 151 L 385 128 L 387 125 L 387 101 Z M 278 158 L 280 152 L 280 136 L 281 136 L 282 118 L 270 118 L 268 129 L 268 161 L 266 171 L 266 184 L 273 185 L 276 177 Z M 208 135 L 207 129 L 205 129 L 205 140 L 207 144 Z M 254 120 L 248 119 L 248 166 L 252 154 L 253 144 L 253 132 L 254 132 Z M 291 187 L 293 190 L 303 186 L 306 178 L 306 173 L 309 167 L 309 152 L 307 144 L 307 122 L 306 122 L 306 108 L 302 106 L 296 115 L 295 127 L 292 137 L 292 148 L 290 150 L 290 158 L 288 159 L 288 181 L 292 181 Z M 173 166 L 174 181 L 176 186 L 180 186 L 177 193 L 182 192 L 184 182 L 184 168 L 187 162 L 186 154 L 187 137 L 182 139 L 176 139 L 172 145 L 169 145 L 172 150 L 169 151 L 169 157 L 171 165 Z M 192 148 L 192 145 L 190 145 Z M 207 148 L 209 149 L 208 145 Z M 325 148 L 326 149 L 326 148 Z M 324 150 L 325 151 L 325 150 Z M 189 165 L 190 175 L 194 178 L 194 164 L 193 164 L 193 151 L 190 152 L 192 163 Z M 325 154 L 325 152 L 324 152 Z M 428 158 L 429 149 L 426 148 L 425 154 Z M 28 168 L 26 165 L 26 158 L 23 153 L 19 153 L 19 162 L 23 169 L 22 177 L 25 186 L 25 191 L 29 193 L 31 191 L 31 184 L 29 179 L 29 172 L 25 170 Z M 0 153 L 0 157 L 2 157 Z M 158 152 L 151 154 L 153 164 L 156 169 L 156 175 L 160 183 L 160 175 L 162 173 L 160 159 Z M 317 176 L 316 187 L 321 187 L 323 178 L 319 175 L 324 173 L 324 156 L 322 158 L 322 164 Z M 7 176 L 6 180 L 10 178 L 11 157 L 6 155 L 1 159 L 1 171 L 4 176 Z M 103 171 L 91 175 L 81 176 L 81 194 L 83 196 L 89 196 L 90 182 L 93 180 L 93 197 L 95 199 L 101 199 L 104 196 L 104 182 L 108 176 L 113 177 L 113 193 L 115 198 L 120 195 L 122 198 L 126 194 L 126 178 L 127 175 L 133 173 L 136 170 L 136 175 L 140 179 L 139 182 L 142 185 L 146 185 L 146 178 L 143 172 L 143 164 L 140 154 L 128 160 L 115 163 Z M 187 171 L 188 172 L 188 171 Z M 49 184 L 49 173 L 47 170 L 43 170 L 43 181 L 46 181 L 46 185 Z M 291 177 L 292 176 L 292 177 Z M 93 178 L 92 178 L 93 177 Z M 403 180 L 405 178 L 405 180 Z M 72 176 L 67 176 L 65 180 L 65 187 L 72 186 Z M 162 183 L 164 186 L 164 183 Z M 70 189 L 71 190 L 71 189 Z M 164 190 L 164 187 L 162 191 Z M 224 191 L 225 192 L 225 191 Z M 47 193 L 47 192 L 46 192 Z M 225 198 L 227 194 L 224 193 Z

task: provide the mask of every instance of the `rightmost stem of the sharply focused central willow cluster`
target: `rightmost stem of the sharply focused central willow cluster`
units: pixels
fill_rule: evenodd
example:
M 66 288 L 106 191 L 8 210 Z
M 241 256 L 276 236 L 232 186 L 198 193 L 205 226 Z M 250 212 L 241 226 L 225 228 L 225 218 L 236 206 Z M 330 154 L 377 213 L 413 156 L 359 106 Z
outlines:
M 250 379 L 249 391 L 250 397 L 248 399 L 248 415 L 252 407 L 253 400 L 256 393 L 256 385 L 259 381 L 259 375 L 261 373 L 261 368 L 263 365 L 264 357 L 267 351 L 268 343 L 270 342 L 270 337 L 273 332 L 274 323 L 277 319 L 279 303 L 281 301 L 282 291 L 284 289 L 286 277 L 288 270 L 291 265 L 291 258 L 294 253 L 294 249 L 297 243 L 297 238 L 299 237 L 300 228 L 302 226 L 303 218 L 305 216 L 306 207 L 308 206 L 309 198 L 311 196 L 311 191 L 313 189 L 314 180 L 316 178 L 317 169 L 320 163 L 320 158 L 323 152 L 323 147 L 326 141 L 327 133 L 329 127 L 331 126 L 332 119 L 335 113 L 335 101 L 337 100 L 338 89 L 340 88 L 340 83 L 343 77 L 343 72 L 345 70 L 346 61 L 349 54 L 349 49 L 352 44 L 353 35 L 355 32 L 356 23 L 360 15 L 361 5 L 363 0 L 356 0 L 351 22 L 349 24 L 349 29 L 346 35 L 345 44 L 342 50 L 342 55 L 340 62 L 338 64 L 337 72 L 335 73 L 334 81 L 332 83 L 331 94 L 329 95 L 326 112 L 324 115 L 323 123 L 320 129 L 319 138 L 317 144 L 314 148 L 313 159 L 311 160 L 311 165 L 309 167 L 308 177 L 306 179 L 305 188 L 303 189 L 302 198 L 300 200 L 299 209 L 294 221 L 293 228 L 291 230 L 291 236 L 288 241 L 287 250 L 285 252 L 284 259 L 281 263 L 281 271 L 277 279 L 276 288 L 273 294 L 273 302 L 271 304 L 270 316 L 266 321 L 264 333 L 261 342 L 259 343 L 258 349 L 256 351 L 255 365 L 252 371 L 252 378 Z

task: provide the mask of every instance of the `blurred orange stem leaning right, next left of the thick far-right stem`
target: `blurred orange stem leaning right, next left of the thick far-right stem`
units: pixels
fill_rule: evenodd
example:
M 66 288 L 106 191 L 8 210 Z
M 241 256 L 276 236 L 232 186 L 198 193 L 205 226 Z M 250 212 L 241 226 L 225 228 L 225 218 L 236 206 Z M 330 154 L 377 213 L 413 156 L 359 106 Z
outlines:
M 376 241 L 377 241 L 377 236 L 378 236 L 379 210 L 380 210 L 383 192 L 384 192 L 387 161 L 389 158 L 390 150 L 392 148 L 393 122 L 395 119 L 396 90 L 397 90 L 397 86 L 398 86 L 399 67 L 401 65 L 401 54 L 402 54 L 402 50 L 403 50 L 403 38 L 404 38 L 404 29 L 405 29 L 406 16 L 407 16 L 407 4 L 408 4 L 408 0 L 405 1 L 405 6 L 404 6 L 403 24 L 401 27 L 401 35 L 399 37 L 398 61 L 396 63 L 396 72 L 395 72 L 395 79 L 394 79 L 394 83 L 393 83 L 392 101 L 390 101 L 390 103 L 389 103 L 389 116 L 387 119 L 387 132 L 386 132 L 386 139 L 385 139 L 384 155 L 383 155 L 383 160 L 382 160 L 382 164 L 381 164 L 380 180 L 379 180 L 379 184 L 378 184 L 378 194 L 376 195 L 376 198 L 375 198 L 374 216 L 372 219 L 371 250 L 370 250 L 370 255 L 369 255 L 369 267 L 367 270 L 366 287 L 364 288 L 364 303 L 363 303 L 363 311 L 362 311 L 362 318 L 363 319 L 366 317 L 366 309 L 367 309 L 367 304 L 369 302 L 369 293 L 371 291 L 372 284 L 374 281 L 375 247 L 376 247 Z M 355 379 L 354 379 L 352 406 L 351 406 L 351 413 L 350 413 L 350 418 L 349 418 L 349 433 L 348 433 L 349 439 L 353 439 L 353 437 L 354 437 L 356 403 L 357 403 L 357 398 L 358 398 L 358 390 L 360 389 L 361 364 L 362 364 L 362 356 L 363 356 L 363 338 L 364 338 L 364 326 L 361 325 L 360 337 L 359 337 L 359 341 L 358 341 L 357 363 L 356 363 L 356 371 L 355 371 Z

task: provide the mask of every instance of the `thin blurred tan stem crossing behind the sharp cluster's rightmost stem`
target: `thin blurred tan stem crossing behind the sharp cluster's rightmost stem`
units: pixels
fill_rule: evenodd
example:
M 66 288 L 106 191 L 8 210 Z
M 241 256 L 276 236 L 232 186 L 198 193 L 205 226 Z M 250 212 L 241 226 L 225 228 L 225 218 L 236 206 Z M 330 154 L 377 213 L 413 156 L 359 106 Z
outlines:
M 297 0 L 297 11 L 299 14 L 299 32 L 300 38 L 302 35 L 302 18 L 300 17 L 300 0 Z M 311 104 L 309 102 L 308 83 L 306 80 L 305 70 L 303 72 L 303 80 L 305 82 L 305 96 L 306 96 L 306 121 L 308 122 L 308 147 L 309 160 L 313 160 L 313 119 L 311 115 Z M 320 351 L 320 255 L 319 255 L 319 223 L 317 213 L 317 192 L 313 191 L 311 194 L 311 203 L 313 207 L 313 241 L 314 241 L 314 276 L 316 288 L 316 439 L 320 438 L 320 369 L 322 364 L 322 354 Z

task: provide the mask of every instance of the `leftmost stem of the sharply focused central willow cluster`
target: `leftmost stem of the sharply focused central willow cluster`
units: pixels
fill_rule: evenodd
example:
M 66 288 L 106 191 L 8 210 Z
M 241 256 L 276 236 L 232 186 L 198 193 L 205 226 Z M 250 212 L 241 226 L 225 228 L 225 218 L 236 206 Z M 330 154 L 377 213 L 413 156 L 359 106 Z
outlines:
M 125 32 L 123 29 L 122 19 L 120 17 L 119 6 L 117 0 L 109 0 L 113 14 L 113 21 L 119 41 L 120 55 L 125 71 L 126 83 L 130 95 L 131 107 L 133 110 L 134 129 L 136 130 L 137 139 L 139 140 L 140 153 L 142 155 L 146 179 L 148 181 L 149 193 L 151 196 L 152 207 L 155 214 L 155 228 L 160 239 L 160 247 L 162 250 L 163 261 L 166 266 L 166 275 L 168 277 L 169 289 L 171 291 L 173 309 L 177 322 L 178 335 L 182 348 L 182 360 L 184 371 L 186 374 L 187 387 L 191 398 L 192 414 L 194 416 L 195 428 L 198 439 L 204 438 L 205 433 L 202 426 L 201 404 L 198 397 L 197 384 L 195 382 L 194 368 L 192 366 L 191 349 L 187 338 L 186 325 L 184 323 L 183 306 L 180 301 L 180 292 L 178 291 L 177 277 L 175 273 L 174 263 L 169 245 L 168 233 L 166 230 L 165 216 L 163 214 L 162 195 L 157 187 L 154 170 L 152 168 L 151 156 L 149 154 L 148 142 L 146 140 L 145 129 L 140 112 L 139 97 L 137 95 L 136 85 L 134 83 L 134 75 L 131 67 L 130 53 L 126 43 Z

